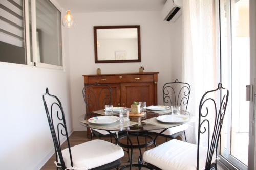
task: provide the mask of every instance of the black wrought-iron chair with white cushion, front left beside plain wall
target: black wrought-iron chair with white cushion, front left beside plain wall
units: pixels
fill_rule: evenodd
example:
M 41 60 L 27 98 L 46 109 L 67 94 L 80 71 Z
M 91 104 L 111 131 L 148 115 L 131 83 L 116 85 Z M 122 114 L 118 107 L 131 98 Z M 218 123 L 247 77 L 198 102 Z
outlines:
M 70 147 L 70 141 L 66 126 L 65 114 L 60 100 L 49 94 L 48 88 L 42 95 L 46 115 L 50 126 L 57 169 L 113 169 L 121 164 L 123 149 L 118 145 L 104 141 L 92 140 Z M 50 107 L 50 112 L 48 109 Z M 68 148 L 61 150 L 60 140 L 67 139 Z

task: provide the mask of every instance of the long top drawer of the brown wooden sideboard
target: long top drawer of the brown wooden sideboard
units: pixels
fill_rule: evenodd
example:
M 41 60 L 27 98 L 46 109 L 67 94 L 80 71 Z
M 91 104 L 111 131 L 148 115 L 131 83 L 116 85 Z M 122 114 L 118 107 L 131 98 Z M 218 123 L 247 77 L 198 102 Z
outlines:
M 129 83 L 129 82 L 153 82 L 151 75 L 113 75 L 113 76 L 90 76 L 88 83 Z

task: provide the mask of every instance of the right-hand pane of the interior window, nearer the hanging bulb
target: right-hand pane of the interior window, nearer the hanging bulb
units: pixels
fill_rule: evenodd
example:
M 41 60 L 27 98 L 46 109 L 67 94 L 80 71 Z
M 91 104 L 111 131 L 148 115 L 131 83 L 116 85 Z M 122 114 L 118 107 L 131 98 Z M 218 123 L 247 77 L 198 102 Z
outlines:
M 62 66 L 61 13 L 49 0 L 36 1 L 37 62 Z

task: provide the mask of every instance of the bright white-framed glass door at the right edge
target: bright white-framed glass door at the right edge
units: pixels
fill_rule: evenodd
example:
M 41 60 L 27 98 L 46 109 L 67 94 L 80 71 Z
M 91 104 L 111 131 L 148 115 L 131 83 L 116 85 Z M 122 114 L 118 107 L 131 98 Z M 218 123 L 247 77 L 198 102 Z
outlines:
M 247 94 L 250 100 L 246 101 L 246 85 L 254 85 L 255 67 L 254 56 L 250 55 L 249 0 L 221 0 L 218 3 L 221 82 L 230 92 L 220 139 L 220 161 L 230 163 L 229 168 L 253 169 L 252 90 Z

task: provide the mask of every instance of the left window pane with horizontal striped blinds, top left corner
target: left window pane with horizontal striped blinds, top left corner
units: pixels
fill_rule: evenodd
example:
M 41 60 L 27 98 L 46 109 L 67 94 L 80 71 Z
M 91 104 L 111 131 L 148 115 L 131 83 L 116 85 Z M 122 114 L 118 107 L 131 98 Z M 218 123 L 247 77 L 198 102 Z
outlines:
M 0 61 L 26 64 L 23 1 L 0 2 Z

